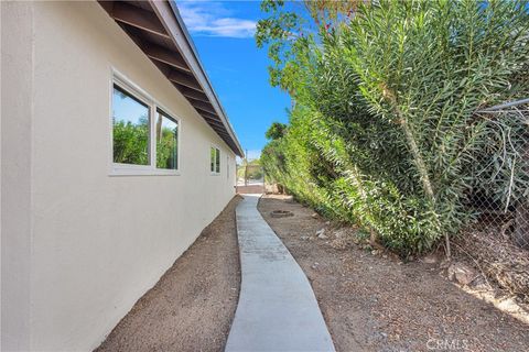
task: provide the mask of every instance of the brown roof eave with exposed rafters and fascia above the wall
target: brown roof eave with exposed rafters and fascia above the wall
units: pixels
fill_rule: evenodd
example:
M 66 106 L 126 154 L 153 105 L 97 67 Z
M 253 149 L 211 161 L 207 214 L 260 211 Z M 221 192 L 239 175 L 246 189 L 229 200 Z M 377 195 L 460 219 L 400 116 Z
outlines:
M 242 156 L 242 147 L 198 58 L 175 2 L 98 2 L 228 147 L 236 155 Z

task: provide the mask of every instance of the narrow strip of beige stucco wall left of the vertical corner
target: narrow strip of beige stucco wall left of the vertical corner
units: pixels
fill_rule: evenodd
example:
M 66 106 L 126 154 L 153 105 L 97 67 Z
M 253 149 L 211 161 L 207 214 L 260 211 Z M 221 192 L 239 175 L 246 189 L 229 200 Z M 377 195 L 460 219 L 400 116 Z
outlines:
M 7 2 L 2 2 L 1 7 L 1 339 L 3 351 L 7 350 L 6 346 L 19 350 L 30 348 L 31 94 L 33 89 L 31 20 L 33 8 L 28 3 Z

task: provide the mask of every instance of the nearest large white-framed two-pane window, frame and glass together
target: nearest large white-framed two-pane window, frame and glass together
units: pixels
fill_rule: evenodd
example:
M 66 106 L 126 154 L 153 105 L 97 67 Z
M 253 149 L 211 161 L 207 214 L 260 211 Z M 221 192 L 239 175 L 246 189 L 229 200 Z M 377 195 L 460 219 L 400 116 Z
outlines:
M 180 119 L 114 72 L 110 175 L 179 175 Z

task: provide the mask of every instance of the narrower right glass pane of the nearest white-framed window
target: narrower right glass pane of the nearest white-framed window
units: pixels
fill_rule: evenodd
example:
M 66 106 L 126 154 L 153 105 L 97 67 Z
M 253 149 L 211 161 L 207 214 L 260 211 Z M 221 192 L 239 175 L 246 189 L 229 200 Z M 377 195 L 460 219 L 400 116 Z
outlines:
M 179 124 L 161 110 L 156 119 L 156 167 L 179 168 Z

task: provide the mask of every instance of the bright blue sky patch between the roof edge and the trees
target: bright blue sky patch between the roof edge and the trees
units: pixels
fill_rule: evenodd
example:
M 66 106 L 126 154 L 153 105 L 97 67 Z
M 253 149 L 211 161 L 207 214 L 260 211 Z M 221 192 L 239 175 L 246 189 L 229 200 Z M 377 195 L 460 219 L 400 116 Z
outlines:
M 258 157 L 290 98 L 268 82 L 266 50 L 253 40 L 260 1 L 176 1 L 198 55 L 248 157 Z

